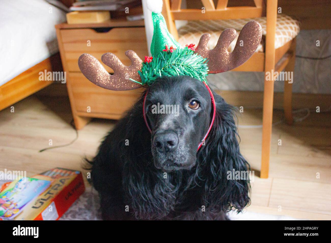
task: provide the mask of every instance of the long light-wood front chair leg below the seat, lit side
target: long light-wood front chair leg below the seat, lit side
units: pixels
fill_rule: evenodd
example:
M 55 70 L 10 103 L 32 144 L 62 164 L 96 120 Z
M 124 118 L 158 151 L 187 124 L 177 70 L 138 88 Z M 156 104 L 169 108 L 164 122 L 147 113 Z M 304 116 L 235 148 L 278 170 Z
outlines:
M 261 178 L 268 178 L 272 133 L 274 81 L 264 79 Z

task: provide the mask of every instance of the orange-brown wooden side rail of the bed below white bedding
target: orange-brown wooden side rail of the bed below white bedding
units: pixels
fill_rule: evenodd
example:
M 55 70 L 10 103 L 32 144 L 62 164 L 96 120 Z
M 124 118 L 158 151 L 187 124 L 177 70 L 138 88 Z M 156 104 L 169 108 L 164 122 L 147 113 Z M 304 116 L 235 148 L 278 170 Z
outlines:
M 0 110 L 53 83 L 54 81 L 39 80 L 39 72 L 44 72 L 45 69 L 47 72 L 63 71 L 59 53 L 39 62 L 0 86 Z

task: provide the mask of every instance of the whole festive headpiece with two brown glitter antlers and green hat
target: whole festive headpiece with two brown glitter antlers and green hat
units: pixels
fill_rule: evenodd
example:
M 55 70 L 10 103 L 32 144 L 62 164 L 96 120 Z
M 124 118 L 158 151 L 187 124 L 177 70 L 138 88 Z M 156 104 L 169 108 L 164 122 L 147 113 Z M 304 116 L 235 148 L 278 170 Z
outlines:
M 160 76 L 188 75 L 206 81 L 208 73 L 225 72 L 243 64 L 261 41 L 260 24 L 250 21 L 241 30 L 231 53 L 227 48 L 236 37 L 234 29 L 225 29 L 212 50 L 207 48 L 210 34 L 201 36 L 195 50 L 193 44 L 182 47 L 166 28 L 161 14 L 162 0 L 148 1 L 148 8 L 153 9 L 152 57 L 145 57 L 143 62 L 134 51 L 128 50 L 125 55 L 131 60 L 131 65 L 125 66 L 113 53 L 106 53 L 101 60 L 114 70 L 111 75 L 95 57 L 85 53 L 79 57 L 78 65 L 88 80 L 102 88 L 117 91 L 150 85 Z

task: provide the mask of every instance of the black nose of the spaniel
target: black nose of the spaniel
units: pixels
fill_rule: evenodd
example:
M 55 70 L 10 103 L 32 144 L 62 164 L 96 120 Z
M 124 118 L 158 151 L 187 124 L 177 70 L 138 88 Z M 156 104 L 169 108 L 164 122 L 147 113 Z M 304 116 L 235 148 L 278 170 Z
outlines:
M 153 144 L 159 152 L 169 152 L 177 148 L 178 136 L 174 132 L 157 133 L 154 136 Z

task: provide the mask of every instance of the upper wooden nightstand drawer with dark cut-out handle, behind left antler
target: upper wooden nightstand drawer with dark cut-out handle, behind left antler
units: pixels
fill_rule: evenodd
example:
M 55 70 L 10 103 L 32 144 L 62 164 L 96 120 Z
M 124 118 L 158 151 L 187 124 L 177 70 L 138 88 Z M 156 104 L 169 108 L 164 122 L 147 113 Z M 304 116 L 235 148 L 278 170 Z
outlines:
M 127 50 L 134 50 L 142 60 L 148 54 L 144 27 L 116 27 L 101 30 L 109 31 L 98 32 L 87 28 L 60 30 L 68 71 L 80 72 L 78 58 L 83 53 L 88 53 L 101 62 L 103 54 L 112 52 L 124 65 L 131 64 L 125 56 Z M 110 67 L 102 64 L 108 72 L 113 72 Z

